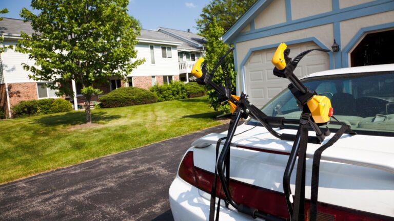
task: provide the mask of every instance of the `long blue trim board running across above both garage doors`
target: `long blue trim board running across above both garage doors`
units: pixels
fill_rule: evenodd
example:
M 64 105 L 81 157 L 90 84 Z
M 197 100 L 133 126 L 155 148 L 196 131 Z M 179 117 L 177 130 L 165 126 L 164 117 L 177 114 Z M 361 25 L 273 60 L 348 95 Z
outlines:
M 333 1 L 337 1 L 337 0 L 333 0 Z M 391 10 L 394 10 L 394 1 L 378 0 L 370 3 L 361 4 L 358 6 L 337 9 L 331 12 L 326 12 L 306 18 L 291 20 L 283 24 L 273 25 L 261 29 L 255 29 L 254 31 L 251 30 L 249 32 L 240 33 L 237 36 L 236 35 L 229 36 L 231 33 L 227 32 L 226 33 L 227 38 L 226 39 L 224 38 L 224 40 L 226 43 L 247 41 L 247 40 L 282 34 L 286 32 L 321 26 L 325 24 L 331 24 L 342 20 L 382 13 Z

